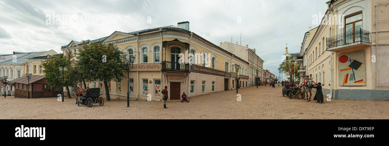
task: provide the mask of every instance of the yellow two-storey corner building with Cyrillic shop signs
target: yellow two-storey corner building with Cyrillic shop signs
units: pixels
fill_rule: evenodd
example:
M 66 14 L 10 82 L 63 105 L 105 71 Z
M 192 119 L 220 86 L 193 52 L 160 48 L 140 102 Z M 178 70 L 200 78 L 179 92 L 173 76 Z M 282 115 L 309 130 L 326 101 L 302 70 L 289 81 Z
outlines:
M 183 92 L 188 97 L 194 97 L 233 90 L 236 86 L 234 74 L 236 76 L 237 73 L 232 64 L 245 68 L 249 66 L 245 60 L 190 32 L 187 21 L 177 26 L 130 33 L 116 31 L 91 42 L 95 41 L 115 43 L 127 58 L 135 56 L 128 77 L 130 84 L 125 78 L 109 83 L 112 99 L 126 99 L 129 89 L 130 98 L 145 100 L 150 94 L 151 100 L 159 101 L 165 86 L 168 87 L 170 100 L 180 99 Z M 72 41 L 68 46 L 63 46 L 62 50 L 64 53 L 73 50 L 77 52 L 77 47 L 82 44 Z M 244 73 L 241 72 L 242 75 Z M 126 71 L 124 75 L 127 76 Z M 100 87 L 101 93 L 105 93 L 102 81 L 88 83 L 88 86 Z

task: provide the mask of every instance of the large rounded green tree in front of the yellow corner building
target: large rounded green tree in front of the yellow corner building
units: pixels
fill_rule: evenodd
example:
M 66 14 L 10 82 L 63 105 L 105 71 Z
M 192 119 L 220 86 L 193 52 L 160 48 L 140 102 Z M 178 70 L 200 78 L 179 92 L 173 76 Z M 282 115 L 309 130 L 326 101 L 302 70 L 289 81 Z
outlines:
M 76 56 L 79 70 L 82 70 L 86 80 L 104 82 L 108 101 L 110 101 L 108 82 L 126 77 L 123 74 L 121 59 L 123 55 L 124 53 L 113 43 L 95 42 L 82 46 Z

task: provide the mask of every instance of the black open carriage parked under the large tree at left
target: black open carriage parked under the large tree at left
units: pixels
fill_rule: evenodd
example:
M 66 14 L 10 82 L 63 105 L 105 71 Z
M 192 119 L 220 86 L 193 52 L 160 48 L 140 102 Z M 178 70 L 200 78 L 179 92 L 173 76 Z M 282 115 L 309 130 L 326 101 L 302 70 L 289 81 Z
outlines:
M 86 91 L 85 91 L 86 90 Z M 86 105 L 92 107 L 93 104 L 98 103 L 100 106 L 104 105 L 103 97 L 100 97 L 100 88 L 82 89 L 81 84 L 77 84 L 73 88 L 73 93 L 76 97 L 77 105 Z

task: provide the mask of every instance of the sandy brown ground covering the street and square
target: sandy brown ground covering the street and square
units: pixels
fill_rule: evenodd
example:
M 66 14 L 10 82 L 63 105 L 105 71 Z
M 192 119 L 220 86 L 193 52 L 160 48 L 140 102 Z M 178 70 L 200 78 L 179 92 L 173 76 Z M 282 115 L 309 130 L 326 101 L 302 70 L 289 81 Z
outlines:
M 0 96 L 0 119 L 389 119 L 389 101 L 282 97 L 281 86 L 256 86 L 189 98 L 189 103 L 131 100 L 105 101 L 103 106 L 77 106 L 75 99 L 21 99 Z

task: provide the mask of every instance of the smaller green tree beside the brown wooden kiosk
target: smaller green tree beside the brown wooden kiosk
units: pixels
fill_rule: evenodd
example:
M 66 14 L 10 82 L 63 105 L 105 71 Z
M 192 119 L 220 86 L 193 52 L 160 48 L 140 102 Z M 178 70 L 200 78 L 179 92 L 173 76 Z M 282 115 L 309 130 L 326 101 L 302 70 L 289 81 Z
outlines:
M 69 86 L 74 86 L 77 83 L 71 73 L 74 69 L 74 65 L 72 65 L 74 64 L 73 58 L 72 51 L 69 51 L 67 56 L 60 54 L 59 56 L 42 61 L 42 67 L 44 67 L 43 73 L 45 74 L 44 79 L 46 79 L 49 86 L 54 88 L 62 88 L 62 75 L 58 68 L 68 67 L 66 75 L 63 76 L 63 86 L 67 89 L 68 98 L 72 98 L 70 96 Z

